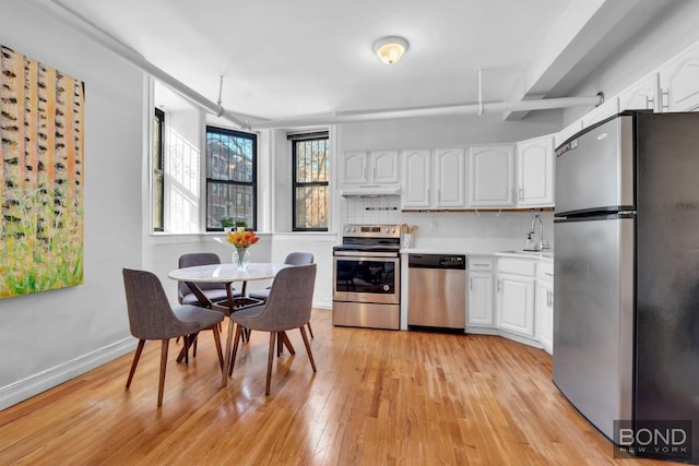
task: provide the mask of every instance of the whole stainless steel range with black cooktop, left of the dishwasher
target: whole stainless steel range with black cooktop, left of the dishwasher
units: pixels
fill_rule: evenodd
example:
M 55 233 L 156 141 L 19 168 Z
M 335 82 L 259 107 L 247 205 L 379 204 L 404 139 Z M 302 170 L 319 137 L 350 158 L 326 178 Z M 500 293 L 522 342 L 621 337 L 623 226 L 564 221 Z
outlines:
M 333 248 L 333 325 L 399 330 L 400 225 L 345 225 Z

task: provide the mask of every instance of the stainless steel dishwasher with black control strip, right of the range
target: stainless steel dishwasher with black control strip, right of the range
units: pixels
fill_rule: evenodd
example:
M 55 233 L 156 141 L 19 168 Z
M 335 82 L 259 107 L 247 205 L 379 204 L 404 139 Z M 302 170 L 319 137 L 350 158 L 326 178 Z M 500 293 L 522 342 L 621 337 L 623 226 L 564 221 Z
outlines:
M 407 325 L 466 326 L 466 256 L 408 254 Z

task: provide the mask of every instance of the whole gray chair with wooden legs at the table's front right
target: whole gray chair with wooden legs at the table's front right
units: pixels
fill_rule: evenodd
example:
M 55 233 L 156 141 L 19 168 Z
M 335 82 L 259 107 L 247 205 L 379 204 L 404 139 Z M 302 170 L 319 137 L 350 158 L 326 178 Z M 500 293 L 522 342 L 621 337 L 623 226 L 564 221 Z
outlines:
M 281 332 L 293 328 L 300 331 L 310 366 L 313 372 L 316 372 L 316 361 L 313 361 L 313 354 L 310 350 L 306 330 L 304 328 L 304 325 L 310 320 L 313 288 L 316 286 L 316 264 L 309 264 L 283 268 L 274 278 L 270 297 L 264 304 L 230 314 L 232 323 L 235 322 L 237 324 L 235 344 L 230 356 L 230 370 L 233 370 L 233 366 L 235 365 L 238 344 L 242 336 L 242 327 L 270 332 L 265 395 L 270 394 L 274 345 L 277 342 L 277 334 Z

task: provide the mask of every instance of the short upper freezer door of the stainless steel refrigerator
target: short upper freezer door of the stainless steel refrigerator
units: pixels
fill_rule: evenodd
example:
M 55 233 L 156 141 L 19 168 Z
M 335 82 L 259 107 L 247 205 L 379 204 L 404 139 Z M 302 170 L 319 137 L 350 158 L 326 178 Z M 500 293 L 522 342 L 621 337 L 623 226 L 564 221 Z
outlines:
M 556 216 L 633 210 L 632 129 L 619 116 L 556 150 Z

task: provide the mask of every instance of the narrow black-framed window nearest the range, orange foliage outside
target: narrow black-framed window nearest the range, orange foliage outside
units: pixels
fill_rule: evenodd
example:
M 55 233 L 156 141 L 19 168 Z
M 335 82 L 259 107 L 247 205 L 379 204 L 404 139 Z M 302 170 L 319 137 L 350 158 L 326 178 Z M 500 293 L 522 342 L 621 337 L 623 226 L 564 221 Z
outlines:
M 289 134 L 294 157 L 294 231 L 328 231 L 328 132 Z

